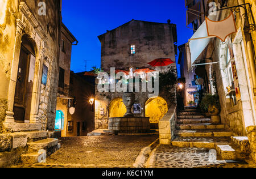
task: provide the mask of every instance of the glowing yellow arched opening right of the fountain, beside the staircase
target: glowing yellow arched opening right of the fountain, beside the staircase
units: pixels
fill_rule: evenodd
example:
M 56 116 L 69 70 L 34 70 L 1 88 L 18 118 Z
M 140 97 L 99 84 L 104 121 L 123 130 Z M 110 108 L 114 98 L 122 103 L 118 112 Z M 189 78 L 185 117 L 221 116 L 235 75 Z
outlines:
M 162 97 L 151 97 L 147 100 L 146 117 L 150 117 L 150 123 L 158 124 L 167 112 L 168 105 Z

